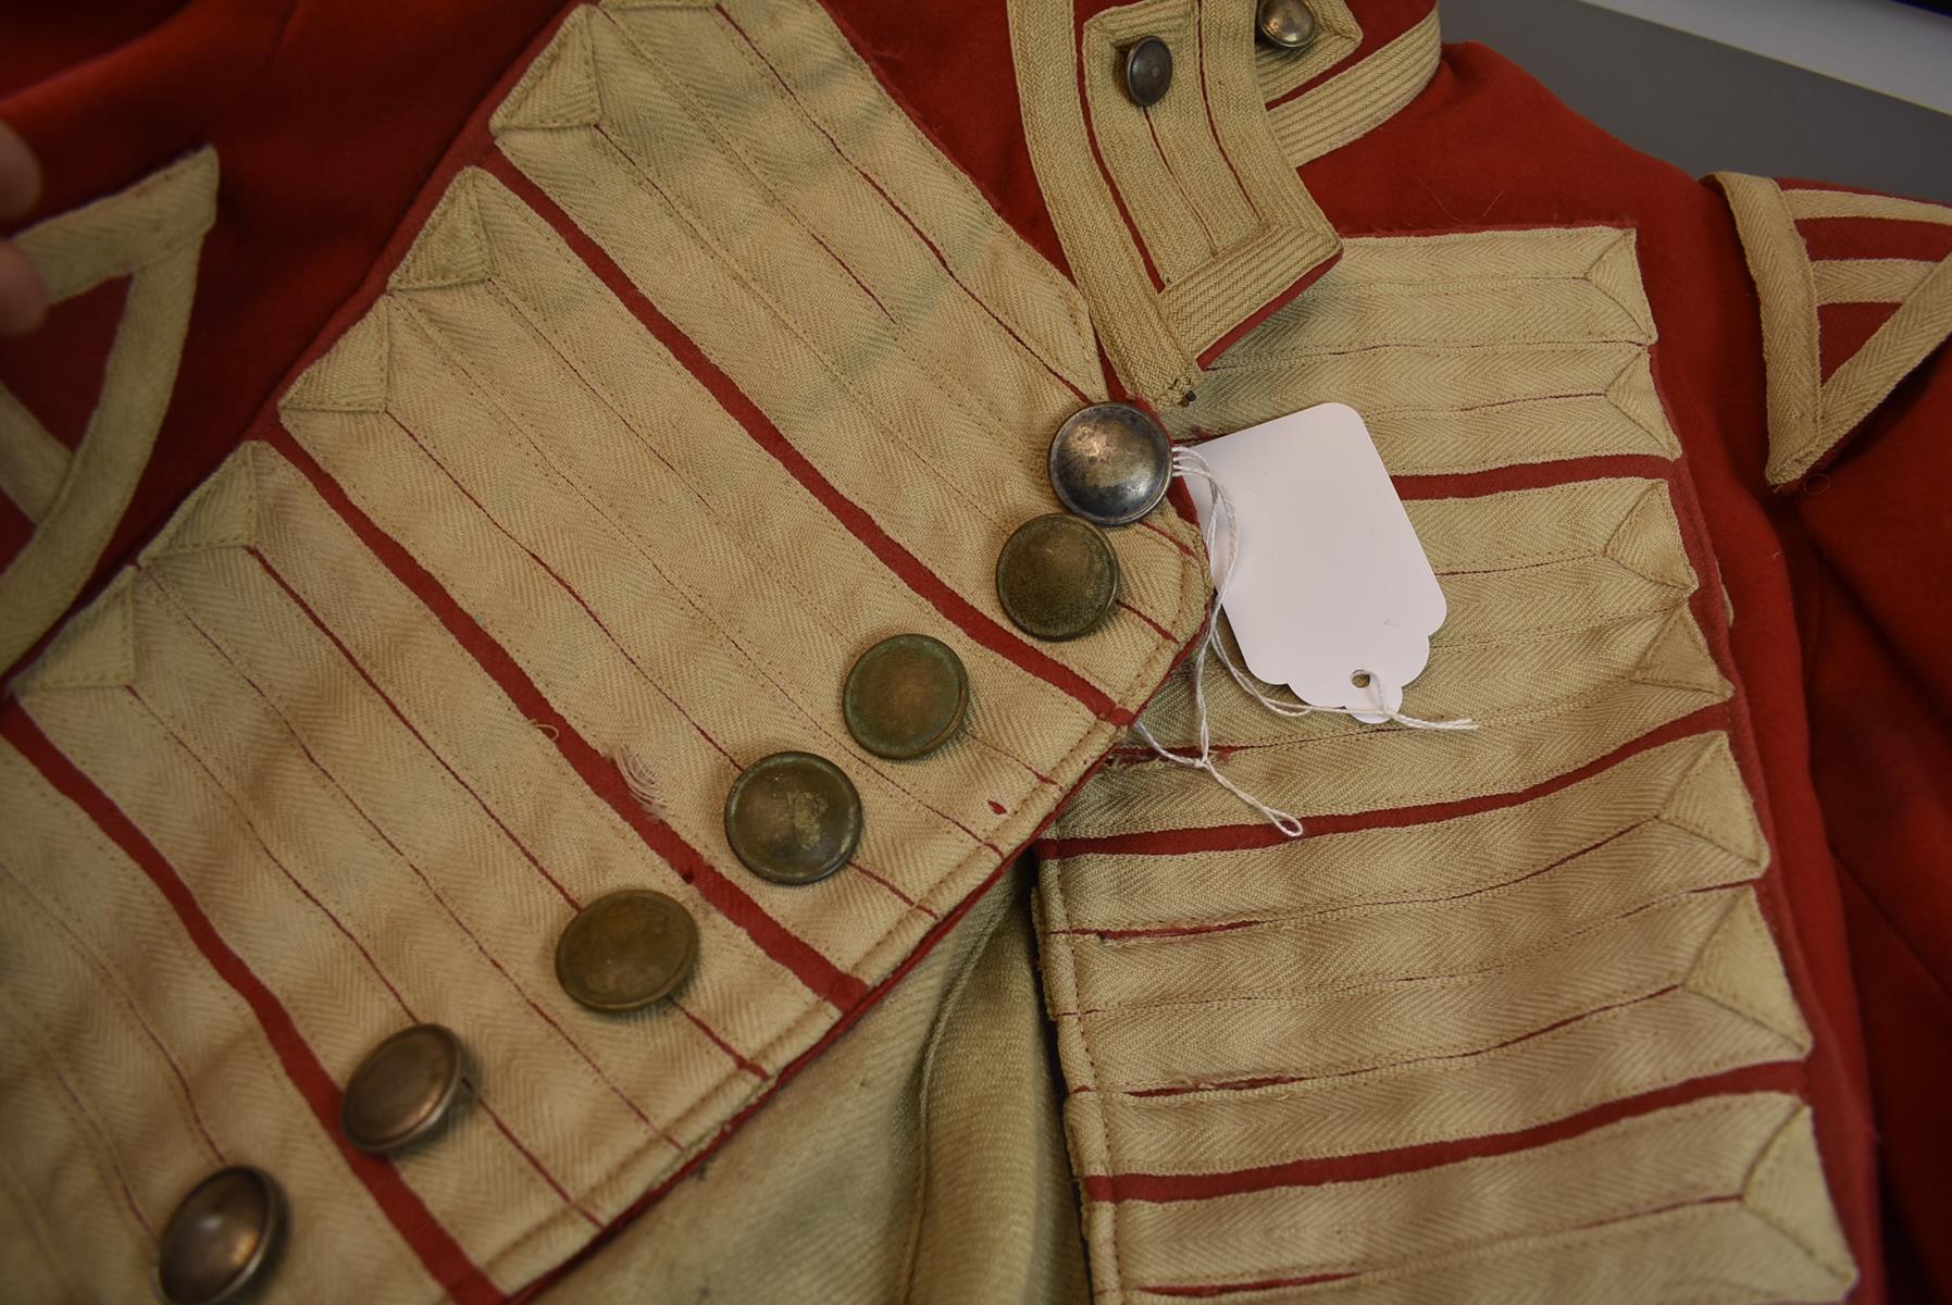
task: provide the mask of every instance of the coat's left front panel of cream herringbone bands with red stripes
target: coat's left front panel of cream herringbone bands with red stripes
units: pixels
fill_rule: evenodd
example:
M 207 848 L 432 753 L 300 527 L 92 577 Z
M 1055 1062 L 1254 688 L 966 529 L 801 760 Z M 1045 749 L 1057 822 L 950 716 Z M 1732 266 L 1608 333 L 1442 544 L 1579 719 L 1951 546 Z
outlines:
M 39 1233 L 84 1297 L 146 1293 L 170 1206 L 232 1159 L 306 1211 L 287 1287 L 490 1299 L 556 1268 L 997 880 L 1204 613 L 1167 509 L 1118 534 L 1095 638 L 1003 620 L 996 552 L 1103 396 L 1087 314 L 820 6 L 572 10 L 441 185 L 260 439 L 14 687 L 61 792 L 0 749 L 4 1092 L 35 1120 L 10 1180 L 74 1194 Z M 974 710 L 890 767 L 837 689 L 904 630 L 960 652 Z M 867 806 L 812 888 L 720 829 L 783 747 Z M 601 1018 L 550 950 L 627 886 L 677 897 L 701 960 Z M 420 1020 L 465 1038 L 474 1108 L 351 1157 L 336 1085 Z

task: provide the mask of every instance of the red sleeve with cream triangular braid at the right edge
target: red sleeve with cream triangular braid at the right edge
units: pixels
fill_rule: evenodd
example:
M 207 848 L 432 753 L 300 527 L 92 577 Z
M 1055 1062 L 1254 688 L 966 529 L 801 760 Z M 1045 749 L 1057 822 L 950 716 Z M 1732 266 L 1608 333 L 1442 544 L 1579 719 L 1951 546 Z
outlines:
M 1718 178 L 1763 314 L 1770 488 L 1847 903 L 1893 1233 L 1952 1217 L 1952 209 Z

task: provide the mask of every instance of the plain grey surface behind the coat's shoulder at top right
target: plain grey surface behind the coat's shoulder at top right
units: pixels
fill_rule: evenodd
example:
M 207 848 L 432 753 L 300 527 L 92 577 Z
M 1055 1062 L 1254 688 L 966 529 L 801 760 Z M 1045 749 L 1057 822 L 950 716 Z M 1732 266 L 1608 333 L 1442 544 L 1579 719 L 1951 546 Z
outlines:
M 1575 0 L 1441 0 L 1439 12 L 1444 41 L 1484 41 L 1608 133 L 1694 176 L 1810 178 L 1952 203 L 1952 115 Z

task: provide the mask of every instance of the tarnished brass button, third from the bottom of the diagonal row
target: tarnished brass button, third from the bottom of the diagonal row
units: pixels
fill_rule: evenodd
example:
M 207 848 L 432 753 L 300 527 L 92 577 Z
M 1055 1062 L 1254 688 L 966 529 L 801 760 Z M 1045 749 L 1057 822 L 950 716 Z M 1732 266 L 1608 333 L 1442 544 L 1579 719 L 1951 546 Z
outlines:
M 591 1010 L 636 1010 L 670 997 L 699 960 L 699 927 L 648 888 L 603 893 L 556 938 L 556 983 Z

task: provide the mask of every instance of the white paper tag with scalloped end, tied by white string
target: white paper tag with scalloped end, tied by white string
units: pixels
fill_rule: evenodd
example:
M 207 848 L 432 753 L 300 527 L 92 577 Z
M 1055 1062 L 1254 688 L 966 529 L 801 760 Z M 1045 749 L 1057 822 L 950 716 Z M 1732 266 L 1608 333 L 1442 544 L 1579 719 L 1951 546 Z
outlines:
M 1234 501 L 1240 558 L 1226 616 L 1247 669 L 1312 706 L 1403 708 L 1431 659 L 1444 591 L 1415 527 L 1347 404 L 1322 404 L 1199 445 Z M 1200 521 L 1210 488 L 1187 480 Z M 1228 562 L 1214 540 L 1214 583 Z M 1366 683 L 1364 683 L 1366 681 Z

